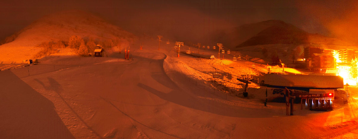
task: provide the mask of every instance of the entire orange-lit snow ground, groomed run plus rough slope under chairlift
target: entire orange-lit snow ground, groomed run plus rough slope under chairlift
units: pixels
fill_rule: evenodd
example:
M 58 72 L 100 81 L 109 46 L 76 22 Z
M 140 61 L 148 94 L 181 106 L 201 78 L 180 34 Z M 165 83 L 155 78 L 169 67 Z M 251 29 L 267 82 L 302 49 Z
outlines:
M 295 115 L 285 116 L 285 104 L 274 101 L 279 95 L 271 88 L 267 107 L 266 88 L 258 84 L 242 97 L 236 78 L 264 74 L 263 65 L 227 55 L 177 58 L 172 45 L 158 50 L 157 43 L 131 47 L 130 60 L 123 53 L 48 56 L 38 65 L 0 71 L 0 137 L 301 139 L 358 133 L 354 87 L 348 105 L 337 99 L 333 111 L 322 112 L 295 104 Z

